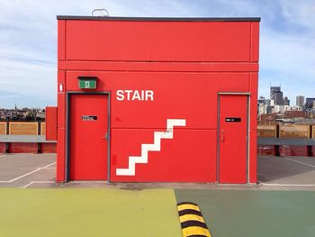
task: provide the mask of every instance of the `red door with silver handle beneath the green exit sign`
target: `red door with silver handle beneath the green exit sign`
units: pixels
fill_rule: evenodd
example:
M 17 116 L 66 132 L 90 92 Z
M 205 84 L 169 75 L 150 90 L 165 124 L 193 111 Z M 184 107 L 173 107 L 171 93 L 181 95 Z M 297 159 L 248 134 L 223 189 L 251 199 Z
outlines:
M 69 130 L 69 178 L 106 180 L 108 96 L 71 95 Z

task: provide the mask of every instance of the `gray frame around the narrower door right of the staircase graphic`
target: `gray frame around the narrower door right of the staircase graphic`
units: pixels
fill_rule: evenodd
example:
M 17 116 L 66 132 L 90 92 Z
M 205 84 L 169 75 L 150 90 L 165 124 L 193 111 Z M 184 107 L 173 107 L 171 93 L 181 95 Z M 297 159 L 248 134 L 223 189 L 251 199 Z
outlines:
M 247 96 L 247 167 L 246 167 L 246 176 L 247 184 L 249 184 L 249 151 L 250 151 L 250 136 L 249 136 L 249 124 L 250 124 L 250 93 L 249 92 L 218 92 L 218 118 L 217 118 L 217 178 L 216 183 L 220 184 L 220 96 Z

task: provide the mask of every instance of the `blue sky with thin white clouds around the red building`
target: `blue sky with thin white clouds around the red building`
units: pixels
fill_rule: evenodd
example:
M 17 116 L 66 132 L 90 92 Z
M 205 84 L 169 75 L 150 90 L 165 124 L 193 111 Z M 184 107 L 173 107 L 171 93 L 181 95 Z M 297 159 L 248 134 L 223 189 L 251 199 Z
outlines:
M 315 97 L 315 0 L 0 0 L 0 108 L 57 105 L 56 15 L 261 17 L 259 96 Z

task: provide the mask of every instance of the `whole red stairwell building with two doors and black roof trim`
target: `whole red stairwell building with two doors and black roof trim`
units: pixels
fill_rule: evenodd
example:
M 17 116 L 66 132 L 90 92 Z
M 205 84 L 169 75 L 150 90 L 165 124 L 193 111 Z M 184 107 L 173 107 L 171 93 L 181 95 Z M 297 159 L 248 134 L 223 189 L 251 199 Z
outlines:
M 57 180 L 256 183 L 259 21 L 58 16 Z

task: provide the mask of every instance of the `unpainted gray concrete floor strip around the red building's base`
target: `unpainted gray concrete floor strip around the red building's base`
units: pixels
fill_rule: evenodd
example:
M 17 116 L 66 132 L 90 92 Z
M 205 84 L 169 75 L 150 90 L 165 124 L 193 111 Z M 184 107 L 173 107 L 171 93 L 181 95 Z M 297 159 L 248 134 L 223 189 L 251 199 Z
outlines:
M 209 183 L 108 183 L 73 181 L 56 183 L 56 154 L 0 154 L 0 187 L 157 187 L 189 189 L 315 190 L 315 158 L 258 157 L 257 185 Z

